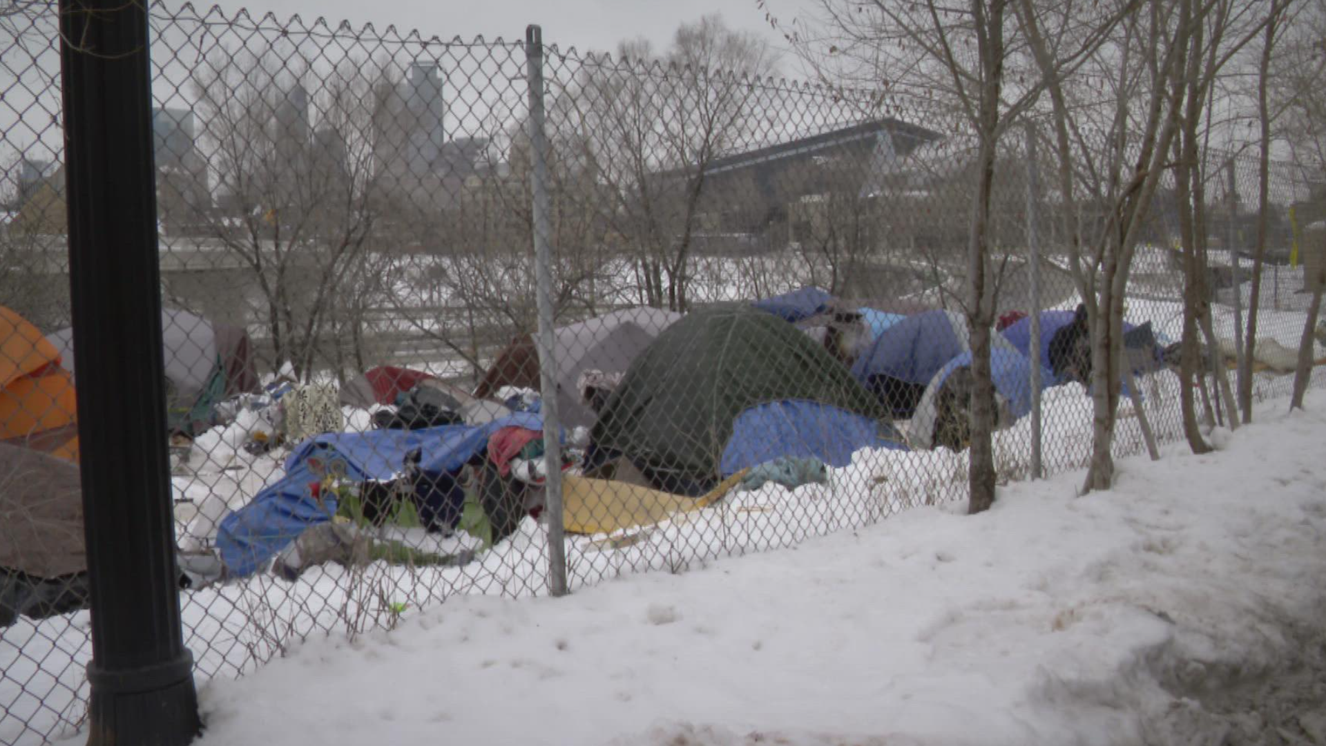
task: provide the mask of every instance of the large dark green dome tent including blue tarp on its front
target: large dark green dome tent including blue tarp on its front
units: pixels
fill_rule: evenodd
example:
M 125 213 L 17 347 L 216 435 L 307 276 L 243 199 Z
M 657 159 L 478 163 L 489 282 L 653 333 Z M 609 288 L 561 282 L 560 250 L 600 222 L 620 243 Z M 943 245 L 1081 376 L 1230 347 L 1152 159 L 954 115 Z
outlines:
M 847 368 L 806 335 L 735 305 L 692 312 L 659 335 L 590 439 L 597 458 L 625 457 L 651 486 L 701 495 L 752 462 L 798 453 L 842 465 L 851 450 L 896 445 L 879 414 Z M 765 426 L 780 430 L 766 435 Z

